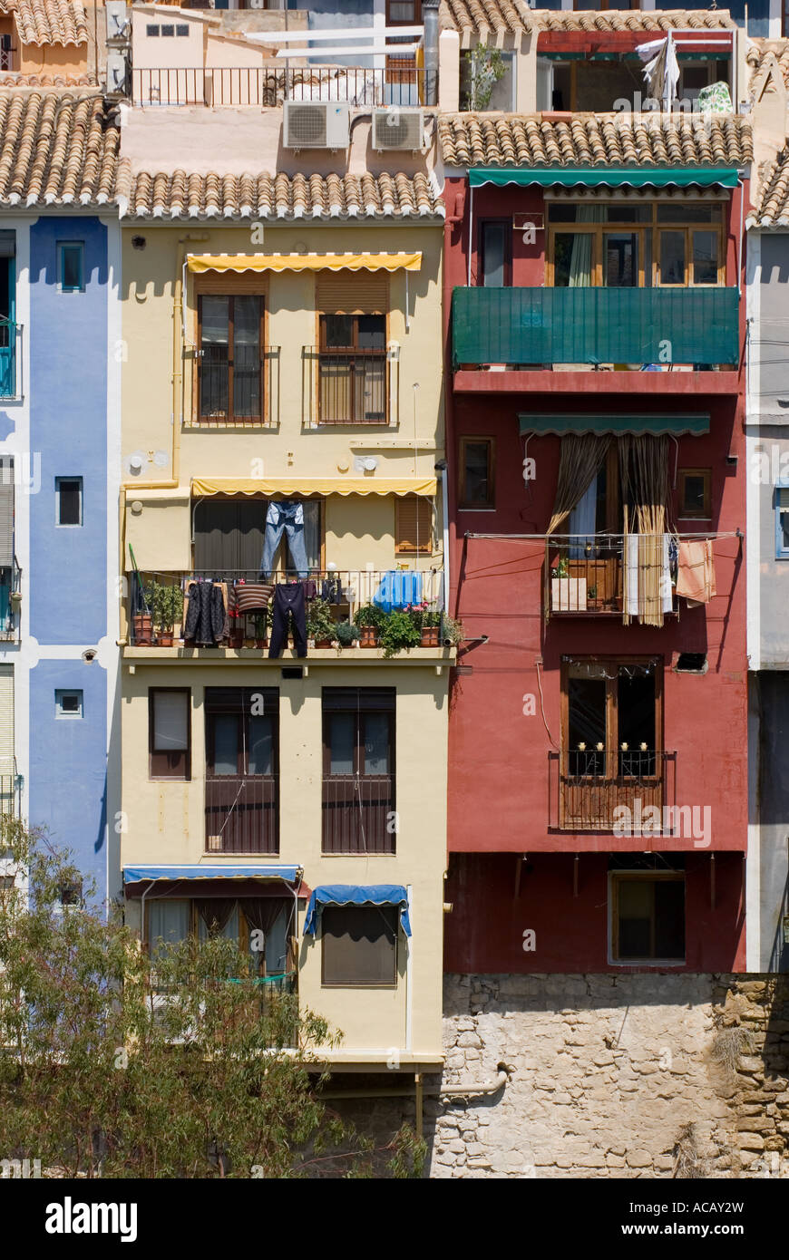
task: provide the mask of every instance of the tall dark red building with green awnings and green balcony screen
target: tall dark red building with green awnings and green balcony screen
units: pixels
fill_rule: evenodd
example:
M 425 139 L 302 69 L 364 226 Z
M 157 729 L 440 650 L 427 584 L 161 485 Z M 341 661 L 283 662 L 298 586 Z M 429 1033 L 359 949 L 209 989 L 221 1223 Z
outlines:
M 456 115 L 445 965 L 745 965 L 742 219 L 710 115 Z

